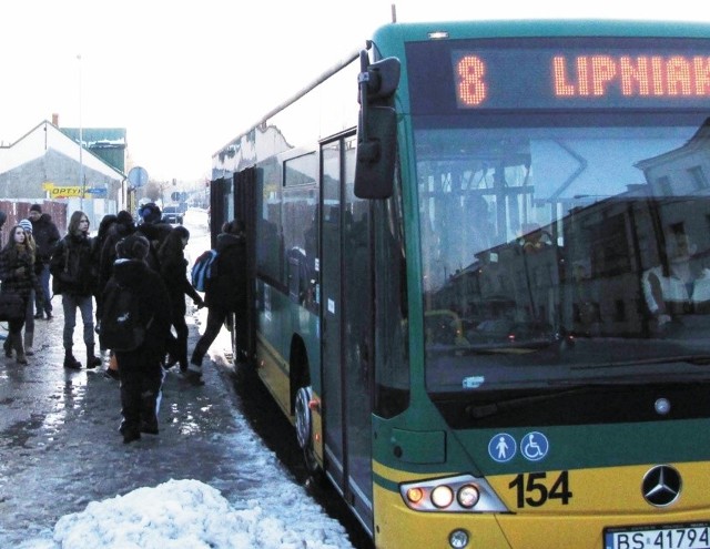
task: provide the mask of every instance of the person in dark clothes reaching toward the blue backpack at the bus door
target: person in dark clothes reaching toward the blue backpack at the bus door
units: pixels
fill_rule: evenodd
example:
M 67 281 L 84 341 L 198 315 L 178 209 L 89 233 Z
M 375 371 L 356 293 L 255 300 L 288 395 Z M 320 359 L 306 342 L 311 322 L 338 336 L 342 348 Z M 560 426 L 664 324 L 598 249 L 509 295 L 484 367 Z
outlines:
M 192 298 L 197 308 L 204 307 L 200 294 L 187 281 L 187 260 L 184 248 L 190 241 L 190 232 L 179 225 L 174 227 L 158 252 L 160 274 L 168 286 L 172 309 L 172 325 L 175 327 L 176 337 L 171 337 L 169 343 L 170 359 L 165 364 L 171 368 L 175 363 L 180 364 L 180 372 L 187 369 L 187 323 L 185 314 L 185 295 Z

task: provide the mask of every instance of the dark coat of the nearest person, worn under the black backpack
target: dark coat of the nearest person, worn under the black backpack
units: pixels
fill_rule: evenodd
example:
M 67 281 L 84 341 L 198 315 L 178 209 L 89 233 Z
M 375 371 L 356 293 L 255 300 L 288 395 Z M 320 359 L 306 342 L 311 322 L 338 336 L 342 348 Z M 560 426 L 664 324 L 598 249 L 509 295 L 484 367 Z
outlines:
M 140 260 L 118 260 L 113 265 L 113 279 L 135 292 L 140 299 L 141 318 L 150 319 L 145 342 L 135 352 L 162 358 L 170 337 L 170 296 L 160 274 Z M 105 295 L 104 295 L 105 302 Z

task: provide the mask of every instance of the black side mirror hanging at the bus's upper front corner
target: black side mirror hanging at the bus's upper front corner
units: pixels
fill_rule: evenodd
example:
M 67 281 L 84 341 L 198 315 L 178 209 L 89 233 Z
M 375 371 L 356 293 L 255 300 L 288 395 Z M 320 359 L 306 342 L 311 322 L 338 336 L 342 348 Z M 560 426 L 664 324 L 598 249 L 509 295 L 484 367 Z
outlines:
M 392 196 L 397 153 L 397 115 L 393 95 L 399 84 L 399 60 L 387 58 L 369 64 L 361 51 L 359 123 L 355 163 L 355 196 Z

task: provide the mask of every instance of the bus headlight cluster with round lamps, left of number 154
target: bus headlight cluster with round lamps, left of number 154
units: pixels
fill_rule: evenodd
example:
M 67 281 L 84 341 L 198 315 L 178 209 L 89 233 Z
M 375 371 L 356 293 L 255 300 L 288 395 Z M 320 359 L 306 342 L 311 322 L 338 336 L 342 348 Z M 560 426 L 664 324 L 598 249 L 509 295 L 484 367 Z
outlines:
M 405 482 L 399 495 L 415 511 L 508 512 L 486 479 L 473 475 Z

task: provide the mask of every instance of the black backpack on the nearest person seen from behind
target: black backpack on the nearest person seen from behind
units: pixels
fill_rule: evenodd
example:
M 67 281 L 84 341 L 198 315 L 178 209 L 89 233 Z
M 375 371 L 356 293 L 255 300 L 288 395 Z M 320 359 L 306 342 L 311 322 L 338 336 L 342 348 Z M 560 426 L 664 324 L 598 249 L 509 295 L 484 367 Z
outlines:
M 153 322 L 141 318 L 140 298 L 135 292 L 109 281 L 103 294 L 103 313 L 99 327 L 101 347 L 111 350 L 135 350 L 145 340 Z

